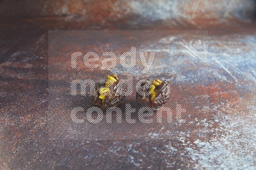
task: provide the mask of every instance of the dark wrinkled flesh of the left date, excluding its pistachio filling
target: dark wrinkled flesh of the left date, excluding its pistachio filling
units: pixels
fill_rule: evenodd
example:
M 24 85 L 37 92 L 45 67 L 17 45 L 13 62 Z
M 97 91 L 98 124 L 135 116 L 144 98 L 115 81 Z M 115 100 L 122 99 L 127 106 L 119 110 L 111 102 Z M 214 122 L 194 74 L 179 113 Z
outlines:
M 117 84 L 117 83 L 116 83 Z M 102 102 L 102 100 L 99 98 L 100 93 L 99 93 L 99 89 L 104 86 L 104 83 L 102 84 L 98 84 L 98 86 L 95 89 L 95 95 L 94 95 L 94 99 L 92 101 L 92 104 L 94 106 L 98 106 L 100 107 L 102 110 L 107 110 L 109 107 L 113 107 L 113 106 L 119 106 L 121 103 L 123 103 L 125 96 L 121 96 L 120 92 L 122 90 L 126 91 L 127 90 L 127 86 L 125 86 L 124 84 L 117 88 L 116 85 L 114 85 L 114 90 L 111 90 L 111 94 L 109 96 L 106 96 L 105 100 Z

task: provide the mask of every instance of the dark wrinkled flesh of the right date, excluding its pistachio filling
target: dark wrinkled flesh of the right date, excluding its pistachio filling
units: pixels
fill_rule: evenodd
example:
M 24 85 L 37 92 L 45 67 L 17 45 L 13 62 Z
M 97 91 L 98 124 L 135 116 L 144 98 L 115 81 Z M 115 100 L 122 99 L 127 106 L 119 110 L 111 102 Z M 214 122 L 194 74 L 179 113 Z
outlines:
M 149 80 L 152 82 L 152 80 Z M 143 84 L 141 84 L 143 86 Z M 143 93 L 148 92 L 149 89 L 142 89 Z M 171 96 L 171 87 L 170 83 L 166 80 L 164 80 L 159 87 L 156 88 L 157 93 L 156 97 L 153 100 L 150 100 L 150 95 L 139 95 L 139 93 L 136 93 L 136 100 L 137 103 L 139 103 L 142 106 L 151 107 L 153 110 L 158 110 L 160 107 L 166 103 L 170 96 Z

